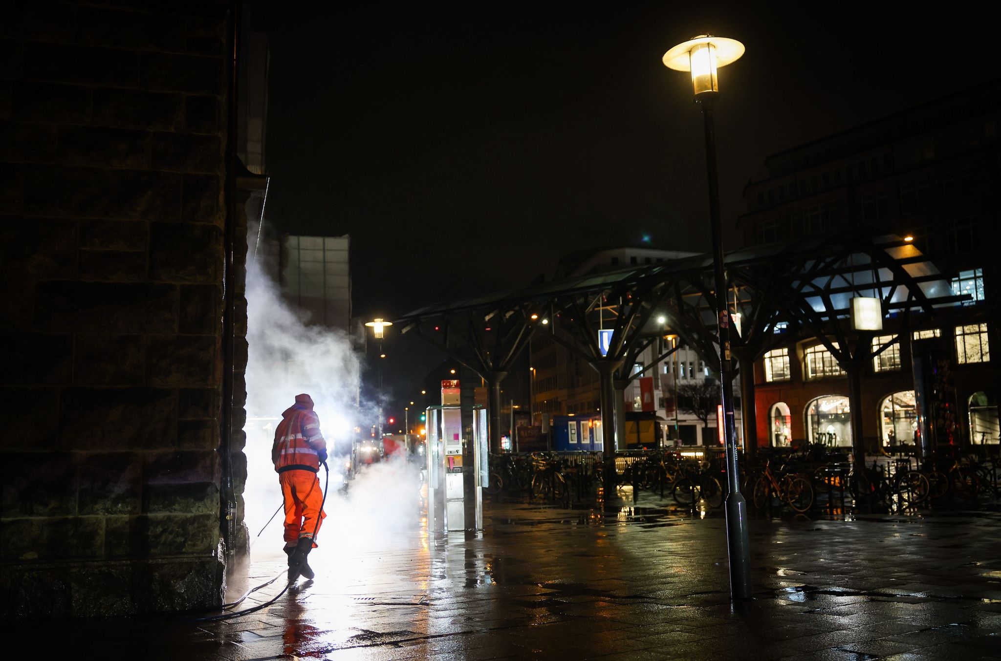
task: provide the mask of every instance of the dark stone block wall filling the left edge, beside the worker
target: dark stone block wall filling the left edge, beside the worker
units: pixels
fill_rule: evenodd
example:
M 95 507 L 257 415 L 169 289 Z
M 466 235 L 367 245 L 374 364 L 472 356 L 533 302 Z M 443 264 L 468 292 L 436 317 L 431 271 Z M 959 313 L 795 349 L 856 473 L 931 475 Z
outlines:
M 228 3 L 0 21 L 0 614 L 221 600 Z

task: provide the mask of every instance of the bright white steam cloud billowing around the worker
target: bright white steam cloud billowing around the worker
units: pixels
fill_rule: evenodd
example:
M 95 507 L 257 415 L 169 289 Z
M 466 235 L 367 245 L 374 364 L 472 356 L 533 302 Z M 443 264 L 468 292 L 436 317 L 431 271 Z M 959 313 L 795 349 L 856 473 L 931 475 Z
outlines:
M 310 326 L 308 319 L 290 309 L 265 272 L 264 255 L 255 252 L 251 247 L 247 255 L 247 483 L 243 494 L 252 557 L 282 555 L 281 512 L 260 537 L 256 535 L 281 503 L 271 464 L 274 429 L 281 412 L 302 392 L 312 396 L 330 452 L 327 518 L 317 540 L 320 549 L 324 542 L 363 547 L 391 542 L 396 532 L 416 524 L 418 469 L 405 458 L 393 456 L 360 471 L 346 490 L 340 488 L 349 455 L 336 452 L 350 448 L 356 425 L 377 415 L 374 404 L 358 401 L 358 355 L 345 333 Z M 322 469 L 319 479 L 322 484 Z

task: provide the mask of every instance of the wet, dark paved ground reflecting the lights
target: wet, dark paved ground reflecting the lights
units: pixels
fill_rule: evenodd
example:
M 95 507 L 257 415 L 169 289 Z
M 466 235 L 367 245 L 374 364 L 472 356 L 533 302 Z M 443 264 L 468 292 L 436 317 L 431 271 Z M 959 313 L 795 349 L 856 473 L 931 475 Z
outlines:
M 665 503 L 487 503 L 480 536 L 428 538 L 416 516 L 380 543 L 328 536 L 314 581 L 224 622 L 5 629 L 37 642 L 28 658 L 1001 659 L 997 508 L 755 518 L 755 599 L 734 605 L 722 517 Z M 283 565 L 257 560 L 230 598 Z

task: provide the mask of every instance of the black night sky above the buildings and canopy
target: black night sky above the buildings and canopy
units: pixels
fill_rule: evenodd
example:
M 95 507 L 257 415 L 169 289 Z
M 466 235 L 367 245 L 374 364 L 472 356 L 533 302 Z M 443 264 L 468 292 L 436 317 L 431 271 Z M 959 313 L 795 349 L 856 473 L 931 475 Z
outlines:
M 693 35 L 747 47 L 720 74 L 728 249 L 769 154 L 999 75 L 986 4 L 257 5 L 268 217 L 351 235 L 362 316 L 527 284 L 645 234 L 708 250 L 702 118 L 661 62 Z

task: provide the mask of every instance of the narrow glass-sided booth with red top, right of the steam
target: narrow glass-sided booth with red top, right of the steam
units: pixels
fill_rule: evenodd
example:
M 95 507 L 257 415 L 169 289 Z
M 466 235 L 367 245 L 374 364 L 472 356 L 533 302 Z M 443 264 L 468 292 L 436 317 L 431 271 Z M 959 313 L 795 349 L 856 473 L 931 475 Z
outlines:
M 457 382 L 454 390 L 457 390 Z M 486 410 L 473 409 L 472 438 L 462 437 L 462 409 L 446 393 L 442 383 L 442 404 L 426 411 L 427 423 L 427 529 L 449 532 L 481 530 L 483 474 L 486 473 Z M 452 388 L 447 388 L 451 390 Z M 450 403 L 454 401 L 454 403 Z M 467 448 L 467 449 L 465 449 Z M 463 449 L 465 451 L 463 452 Z M 471 456 L 470 466 L 465 457 Z M 466 525 L 465 481 L 472 486 L 472 525 Z

